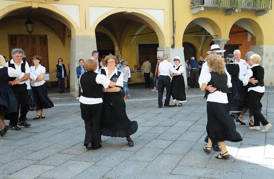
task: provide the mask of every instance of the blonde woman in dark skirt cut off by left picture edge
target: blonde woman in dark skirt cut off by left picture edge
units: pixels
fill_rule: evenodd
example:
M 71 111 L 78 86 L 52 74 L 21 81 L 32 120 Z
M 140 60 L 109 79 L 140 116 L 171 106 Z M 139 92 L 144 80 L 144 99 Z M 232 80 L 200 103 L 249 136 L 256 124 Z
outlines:
M 5 63 L 5 58 L 0 55 L 0 126 L 3 128 L 0 134 L 1 137 L 10 129 L 9 126 L 5 125 L 5 115 L 17 112 L 17 99 L 9 87 L 9 77 L 22 79 L 25 76 L 25 73 L 22 73 L 21 70 L 5 67 Z

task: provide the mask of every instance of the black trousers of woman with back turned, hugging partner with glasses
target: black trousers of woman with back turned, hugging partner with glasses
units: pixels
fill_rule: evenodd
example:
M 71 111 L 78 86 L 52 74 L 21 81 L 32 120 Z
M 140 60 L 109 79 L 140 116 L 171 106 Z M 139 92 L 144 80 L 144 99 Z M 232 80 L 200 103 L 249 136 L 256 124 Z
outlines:
M 84 145 L 91 143 L 92 148 L 100 146 L 100 116 L 102 112 L 103 103 L 99 104 L 83 104 L 80 103 L 81 116 L 85 121 L 85 141 Z

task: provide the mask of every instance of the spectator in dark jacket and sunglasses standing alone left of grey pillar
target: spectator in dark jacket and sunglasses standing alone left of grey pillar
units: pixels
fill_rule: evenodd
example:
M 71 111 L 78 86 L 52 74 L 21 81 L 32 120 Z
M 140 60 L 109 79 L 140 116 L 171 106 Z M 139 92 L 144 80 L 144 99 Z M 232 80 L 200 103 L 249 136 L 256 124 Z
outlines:
M 63 64 L 63 59 L 58 58 L 58 64 L 56 65 L 57 68 L 57 80 L 58 80 L 58 91 L 59 93 L 67 93 L 65 91 L 65 78 L 67 78 L 67 71 L 66 67 Z

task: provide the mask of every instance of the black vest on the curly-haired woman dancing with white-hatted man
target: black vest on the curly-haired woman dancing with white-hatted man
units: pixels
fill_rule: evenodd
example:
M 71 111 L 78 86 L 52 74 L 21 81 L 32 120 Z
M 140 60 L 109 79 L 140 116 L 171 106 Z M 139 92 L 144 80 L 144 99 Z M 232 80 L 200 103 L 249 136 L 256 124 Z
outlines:
M 219 75 L 216 72 L 210 72 L 210 74 L 211 74 L 211 79 L 207 85 L 212 85 L 212 87 L 217 88 L 216 91 L 221 91 L 223 93 L 231 93 L 227 87 L 227 73 Z M 209 94 L 210 94 L 210 92 L 206 90 L 206 94 L 205 94 L 204 98 L 207 99 L 207 95 L 209 95 Z

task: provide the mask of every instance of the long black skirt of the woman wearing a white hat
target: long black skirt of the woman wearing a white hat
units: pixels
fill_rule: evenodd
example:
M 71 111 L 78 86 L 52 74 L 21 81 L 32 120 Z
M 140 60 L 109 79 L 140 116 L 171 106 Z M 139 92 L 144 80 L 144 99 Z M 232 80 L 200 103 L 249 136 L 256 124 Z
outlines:
M 172 77 L 171 96 L 173 99 L 177 99 L 178 101 L 186 102 L 183 75 L 178 75 L 178 76 Z

